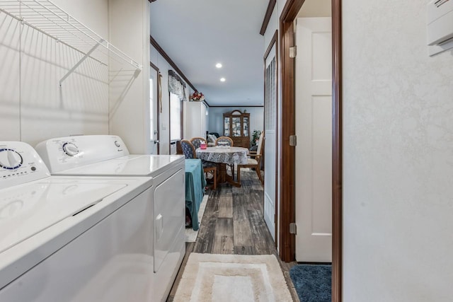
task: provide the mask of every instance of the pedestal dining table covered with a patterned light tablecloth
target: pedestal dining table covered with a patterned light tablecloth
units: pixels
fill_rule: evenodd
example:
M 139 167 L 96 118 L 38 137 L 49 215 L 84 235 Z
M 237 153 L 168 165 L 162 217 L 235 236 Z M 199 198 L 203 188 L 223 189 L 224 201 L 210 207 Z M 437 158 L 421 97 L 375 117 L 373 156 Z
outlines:
M 247 163 L 248 149 L 235 146 L 213 146 L 196 150 L 197 158 L 219 164 L 217 183 L 229 183 L 241 187 L 240 182 L 234 181 L 234 175 L 226 173 L 226 165 L 245 165 Z

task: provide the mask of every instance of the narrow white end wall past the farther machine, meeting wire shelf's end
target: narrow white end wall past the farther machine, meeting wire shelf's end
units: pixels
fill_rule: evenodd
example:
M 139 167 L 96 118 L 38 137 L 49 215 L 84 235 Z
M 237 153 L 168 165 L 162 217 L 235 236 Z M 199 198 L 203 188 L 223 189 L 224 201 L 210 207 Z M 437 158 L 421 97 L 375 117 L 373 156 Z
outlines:
M 149 1 L 109 0 L 109 39 L 142 64 L 110 62 L 110 134 L 119 135 L 130 153 L 151 153 L 149 142 Z

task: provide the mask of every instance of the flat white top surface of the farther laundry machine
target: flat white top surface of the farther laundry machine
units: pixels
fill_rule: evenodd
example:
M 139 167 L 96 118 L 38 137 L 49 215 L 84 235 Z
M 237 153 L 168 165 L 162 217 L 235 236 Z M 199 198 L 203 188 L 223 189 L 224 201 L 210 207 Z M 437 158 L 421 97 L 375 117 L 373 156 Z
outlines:
M 184 158 L 180 155 L 129 155 L 59 171 L 52 175 L 155 177 L 168 168 L 168 165 L 184 161 Z

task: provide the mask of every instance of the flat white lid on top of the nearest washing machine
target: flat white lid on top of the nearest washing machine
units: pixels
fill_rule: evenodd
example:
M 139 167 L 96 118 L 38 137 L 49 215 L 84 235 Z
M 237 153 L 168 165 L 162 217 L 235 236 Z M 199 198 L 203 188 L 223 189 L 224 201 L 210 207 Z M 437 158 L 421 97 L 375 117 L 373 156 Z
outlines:
M 97 204 L 127 183 L 47 178 L 1 190 L 0 252 Z

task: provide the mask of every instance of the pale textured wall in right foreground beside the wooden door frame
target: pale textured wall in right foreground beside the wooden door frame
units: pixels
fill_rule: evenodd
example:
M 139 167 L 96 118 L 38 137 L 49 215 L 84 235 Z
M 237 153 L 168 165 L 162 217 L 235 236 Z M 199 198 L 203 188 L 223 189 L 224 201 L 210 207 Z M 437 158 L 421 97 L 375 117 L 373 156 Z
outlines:
M 452 301 L 453 52 L 428 0 L 343 0 L 343 301 Z

